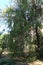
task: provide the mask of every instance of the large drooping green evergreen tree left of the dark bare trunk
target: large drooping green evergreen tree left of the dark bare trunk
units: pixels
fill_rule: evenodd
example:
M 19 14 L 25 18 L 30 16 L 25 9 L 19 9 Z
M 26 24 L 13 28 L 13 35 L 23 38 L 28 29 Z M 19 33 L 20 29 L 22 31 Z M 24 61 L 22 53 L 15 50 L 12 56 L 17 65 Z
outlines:
M 29 39 L 28 41 L 31 42 L 31 37 L 29 36 L 30 29 L 25 13 L 28 10 L 28 4 L 26 2 L 26 0 L 18 0 L 19 9 L 14 10 L 9 8 L 6 10 L 6 14 L 8 14 L 8 27 L 11 29 L 8 46 L 11 51 L 19 53 L 20 56 L 23 52 L 25 41 Z

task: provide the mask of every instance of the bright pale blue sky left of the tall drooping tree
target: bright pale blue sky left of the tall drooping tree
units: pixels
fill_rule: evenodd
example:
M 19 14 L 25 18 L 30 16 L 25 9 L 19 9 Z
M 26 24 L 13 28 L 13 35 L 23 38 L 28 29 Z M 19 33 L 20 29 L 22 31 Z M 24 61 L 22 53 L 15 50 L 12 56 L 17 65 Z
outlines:
M 0 9 L 4 9 L 10 4 L 11 0 L 0 0 Z M 5 31 L 4 31 L 5 30 Z M 5 21 L 0 18 L 0 33 L 7 33 L 8 28 Z

